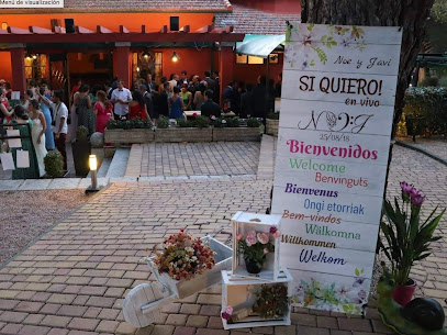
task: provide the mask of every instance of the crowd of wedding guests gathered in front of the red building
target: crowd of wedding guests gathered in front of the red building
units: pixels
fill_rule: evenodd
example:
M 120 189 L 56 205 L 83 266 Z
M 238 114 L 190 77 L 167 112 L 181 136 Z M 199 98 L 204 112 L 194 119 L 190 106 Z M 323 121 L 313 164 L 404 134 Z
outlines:
M 193 75 L 188 78 L 185 70 L 178 76 L 163 77 L 160 85 L 153 80 L 150 74 L 134 81 L 132 91 L 124 87 L 124 81 L 114 78 L 102 87 L 78 80 L 70 93 L 69 108 L 64 102 L 64 91 L 52 91 L 48 83 L 42 80 L 37 86 L 30 80 L 29 89 L 23 94 L 23 103 L 12 109 L 9 105 L 11 86 L 0 80 L 0 123 L 18 123 L 22 137 L 30 137 L 34 145 L 33 166 L 29 170 L 13 172 L 18 178 L 37 178 L 45 174 L 44 157 L 48 150 L 57 148 L 64 157 L 64 169 L 67 169 L 66 142 L 75 141 L 78 126 L 87 127 L 89 135 L 104 133 L 109 120 L 149 120 L 157 124 L 160 116 L 169 119 L 186 118 L 186 111 L 201 111 L 205 116 L 220 116 L 222 112 L 233 112 L 241 118 L 264 118 L 275 107 L 275 98 L 280 96 L 281 75 L 275 83 L 267 85 L 266 77 L 259 76 L 258 82 L 245 85 L 244 81 L 231 81 L 223 88 L 220 105 L 221 82 L 219 72 L 205 71 L 200 78 Z M 30 124 L 27 127 L 20 125 Z M 68 125 L 70 123 L 70 126 Z M 30 145 L 32 148 L 32 146 Z M 32 164 L 31 164 L 32 165 Z M 38 171 L 34 176 L 33 170 Z M 20 174 L 20 176 L 19 176 Z M 15 176 L 18 175 L 18 176 Z

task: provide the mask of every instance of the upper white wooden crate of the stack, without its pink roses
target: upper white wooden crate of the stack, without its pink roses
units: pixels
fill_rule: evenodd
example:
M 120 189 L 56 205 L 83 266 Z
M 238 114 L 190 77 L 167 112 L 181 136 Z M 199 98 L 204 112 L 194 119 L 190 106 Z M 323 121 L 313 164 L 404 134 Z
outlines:
M 233 264 L 232 275 L 238 277 L 249 277 L 257 280 L 277 280 L 279 273 L 279 245 L 280 238 L 270 236 L 270 242 L 275 245 L 275 252 L 267 254 L 267 261 L 264 264 L 261 271 L 258 275 L 248 273 L 245 267 L 243 255 L 236 256 L 237 253 L 237 234 L 244 234 L 244 237 L 249 231 L 257 233 L 269 233 L 270 227 L 275 226 L 280 231 L 281 215 L 272 214 L 256 214 L 237 212 L 233 219 Z

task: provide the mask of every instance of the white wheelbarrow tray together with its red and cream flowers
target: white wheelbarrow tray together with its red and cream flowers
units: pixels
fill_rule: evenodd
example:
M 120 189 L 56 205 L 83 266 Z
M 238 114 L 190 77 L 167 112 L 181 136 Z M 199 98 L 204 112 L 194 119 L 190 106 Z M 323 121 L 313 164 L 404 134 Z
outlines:
M 232 249 L 205 236 L 192 238 L 181 230 L 163 243 L 163 250 L 149 257 L 157 280 L 183 299 L 220 282 L 221 270 L 232 266 Z

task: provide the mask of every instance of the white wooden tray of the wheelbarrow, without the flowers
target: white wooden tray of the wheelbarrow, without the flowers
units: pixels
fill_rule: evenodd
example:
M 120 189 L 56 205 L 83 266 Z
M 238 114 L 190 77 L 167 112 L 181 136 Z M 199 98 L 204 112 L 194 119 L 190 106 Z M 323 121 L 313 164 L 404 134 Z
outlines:
M 205 270 L 202 275 L 197 275 L 190 280 L 175 280 L 170 278 L 168 273 L 159 273 L 158 268 L 153 261 L 155 257 L 148 258 L 149 268 L 157 280 L 179 299 L 187 298 L 220 283 L 221 271 L 232 268 L 233 250 L 230 247 L 211 236 L 202 237 L 202 241 L 208 242 L 209 246 L 217 253 L 217 255 L 214 256 L 215 265 L 212 269 Z

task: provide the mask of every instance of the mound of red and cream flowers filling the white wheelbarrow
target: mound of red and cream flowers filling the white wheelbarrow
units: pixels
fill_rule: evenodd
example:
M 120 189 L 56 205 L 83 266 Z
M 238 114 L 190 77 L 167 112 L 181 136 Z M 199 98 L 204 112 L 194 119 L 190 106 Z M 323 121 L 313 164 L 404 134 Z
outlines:
M 157 253 L 154 264 L 159 273 L 168 273 L 176 280 L 189 280 L 206 269 L 213 268 L 216 255 L 202 239 L 192 238 L 183 230 L 169 236 L 163 243 L 163 252 Z

